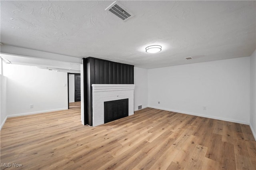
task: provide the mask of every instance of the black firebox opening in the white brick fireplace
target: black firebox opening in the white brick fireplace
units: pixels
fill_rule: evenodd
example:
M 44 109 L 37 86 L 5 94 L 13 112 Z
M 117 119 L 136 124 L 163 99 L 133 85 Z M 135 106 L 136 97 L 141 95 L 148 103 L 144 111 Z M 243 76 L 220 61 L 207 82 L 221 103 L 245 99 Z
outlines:
M 128 116 L 128 99 L 104 102 L 104 123 Z

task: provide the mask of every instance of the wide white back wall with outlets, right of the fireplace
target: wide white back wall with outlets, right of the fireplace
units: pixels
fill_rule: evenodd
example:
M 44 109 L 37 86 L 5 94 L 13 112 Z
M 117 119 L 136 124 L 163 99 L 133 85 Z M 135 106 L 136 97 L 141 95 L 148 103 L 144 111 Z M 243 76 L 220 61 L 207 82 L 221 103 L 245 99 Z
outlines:
M 249 103 L 250 57 L 148 70 L 148 107 L 249 124 Z

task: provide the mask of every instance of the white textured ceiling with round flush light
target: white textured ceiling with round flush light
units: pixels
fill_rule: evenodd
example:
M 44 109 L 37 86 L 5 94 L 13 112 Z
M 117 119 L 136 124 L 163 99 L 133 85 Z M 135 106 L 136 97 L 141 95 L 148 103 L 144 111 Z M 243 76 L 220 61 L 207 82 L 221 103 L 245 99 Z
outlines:
M 126 22 L 105 11 L 112 2 L 1 1 L 0 41 L 142 68 L 246 57 L 256 48 L 256 1 L 119 1 L 135 15 Z M 146 53 L 154 44 L 162 51 Z

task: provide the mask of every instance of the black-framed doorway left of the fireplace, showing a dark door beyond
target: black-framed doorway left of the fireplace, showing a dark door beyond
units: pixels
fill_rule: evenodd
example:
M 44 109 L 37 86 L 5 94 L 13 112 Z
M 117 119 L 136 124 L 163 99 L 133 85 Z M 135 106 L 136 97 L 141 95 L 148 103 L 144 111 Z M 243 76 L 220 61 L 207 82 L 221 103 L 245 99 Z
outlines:
M 81 77 L 79 73 L 68 73 L 68 109 L 81 107 Z

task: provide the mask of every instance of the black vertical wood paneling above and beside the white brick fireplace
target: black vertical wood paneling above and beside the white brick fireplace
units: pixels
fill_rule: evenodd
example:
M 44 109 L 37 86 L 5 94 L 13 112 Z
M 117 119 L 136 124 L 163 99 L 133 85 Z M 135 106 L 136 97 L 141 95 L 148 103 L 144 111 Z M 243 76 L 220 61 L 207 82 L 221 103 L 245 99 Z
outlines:
M 84 123 L 92 126 L 92 84 L 134 84 L 134 65 L 93 57 L 83 58 L 83 63 Z

